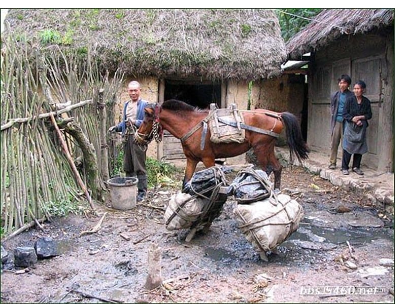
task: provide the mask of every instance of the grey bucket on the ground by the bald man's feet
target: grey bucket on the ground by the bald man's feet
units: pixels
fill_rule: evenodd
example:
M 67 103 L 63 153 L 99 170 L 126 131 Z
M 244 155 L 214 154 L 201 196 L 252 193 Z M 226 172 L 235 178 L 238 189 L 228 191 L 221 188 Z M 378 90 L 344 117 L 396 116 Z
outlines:
M 129 210 L 136 207 L 138 194 L 137 177 L 113 177 L 107 181 L 111 205 L 114 209 Z

